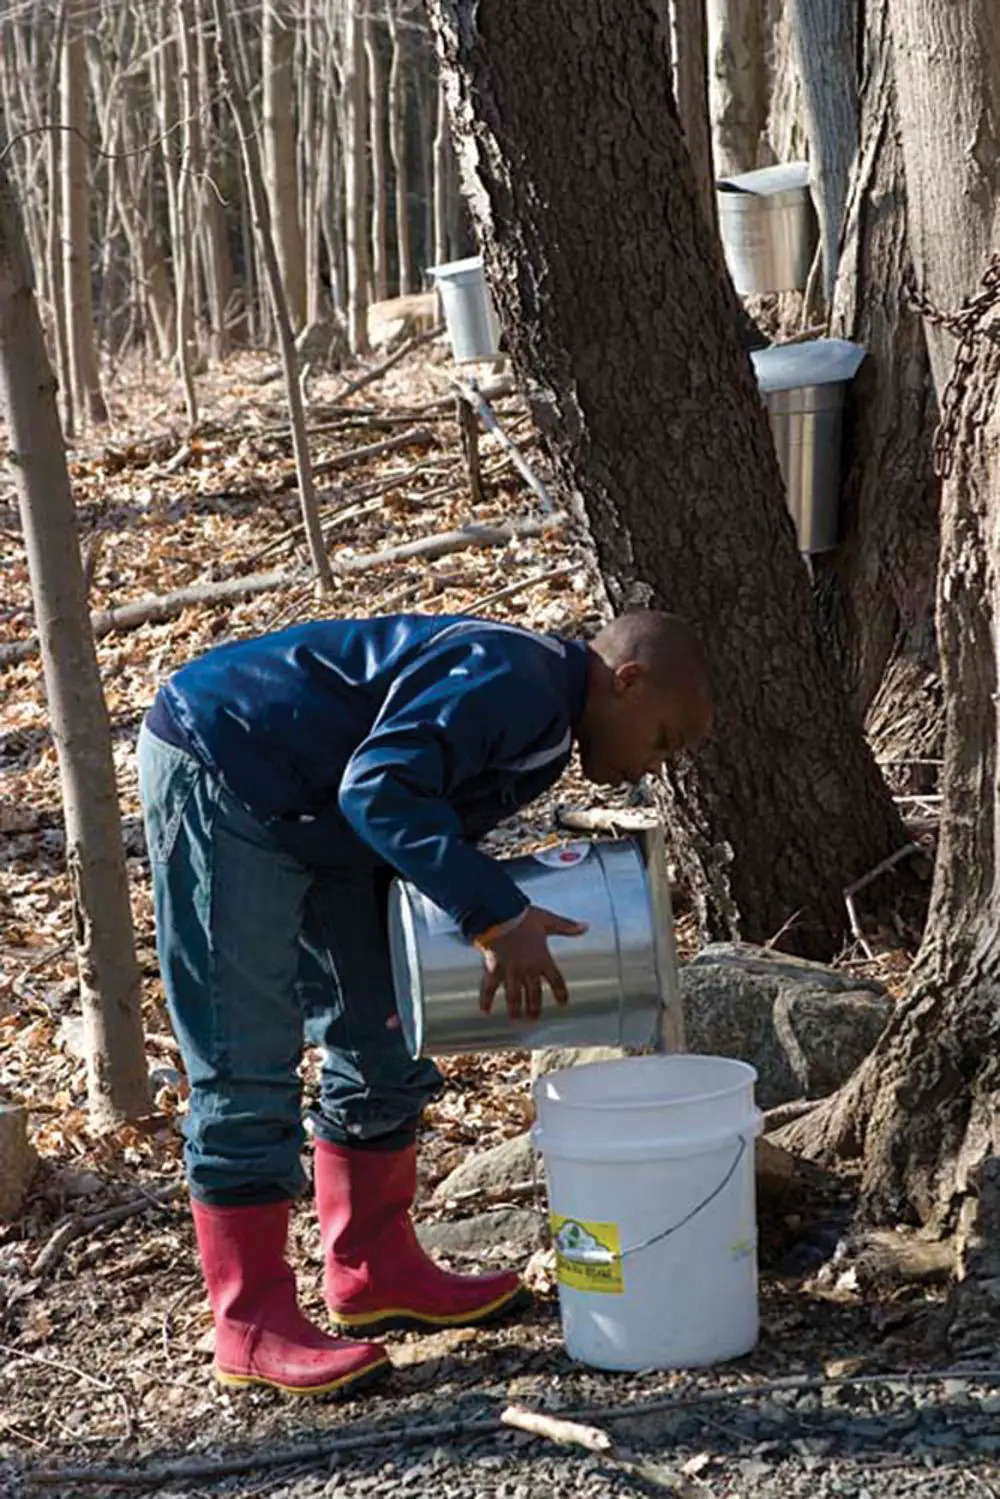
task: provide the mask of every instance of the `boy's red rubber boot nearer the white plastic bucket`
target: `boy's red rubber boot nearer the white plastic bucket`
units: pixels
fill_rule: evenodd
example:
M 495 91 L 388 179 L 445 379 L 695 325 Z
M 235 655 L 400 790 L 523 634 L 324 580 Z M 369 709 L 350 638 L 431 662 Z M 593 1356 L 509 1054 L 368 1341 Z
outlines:
M 457 1276 L 424 1255 L 409 1220 L 417 1147 L 349 1150 L 316 1141 L 316 1207 L 333 1321 L 376 1336 L 472 1327 L 529 1301 L 514 1271 Z

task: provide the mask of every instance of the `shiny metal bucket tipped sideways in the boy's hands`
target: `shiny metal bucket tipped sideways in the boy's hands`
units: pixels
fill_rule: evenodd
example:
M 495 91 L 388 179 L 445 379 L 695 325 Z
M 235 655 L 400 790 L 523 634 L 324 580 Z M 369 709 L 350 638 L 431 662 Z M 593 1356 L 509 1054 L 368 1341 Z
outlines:
M 660 829 L 639 838 L 561 844 L 511 859 L 534 905 L 589 922 L 583 937 L 552 937 L 570 991 L 556 1006 L 543 985 L 537 1021 L 510 1021 L 502 991 L 478 1009 L 483 958 L 412 884 L 394 880 L 388 938 L 396 1007 L 411 1057 L 544 1046 L 684 1049 L 670 886 Z

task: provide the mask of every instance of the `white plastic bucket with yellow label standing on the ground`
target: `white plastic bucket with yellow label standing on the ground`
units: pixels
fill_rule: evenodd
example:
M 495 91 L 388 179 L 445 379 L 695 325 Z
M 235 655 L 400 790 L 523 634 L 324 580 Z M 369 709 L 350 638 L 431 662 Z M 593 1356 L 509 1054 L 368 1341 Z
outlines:
M 757 1073 L 627 1057 L 535 1082 L 562 1334 L 595 1369 L 688 1369 L 757 1342 Z

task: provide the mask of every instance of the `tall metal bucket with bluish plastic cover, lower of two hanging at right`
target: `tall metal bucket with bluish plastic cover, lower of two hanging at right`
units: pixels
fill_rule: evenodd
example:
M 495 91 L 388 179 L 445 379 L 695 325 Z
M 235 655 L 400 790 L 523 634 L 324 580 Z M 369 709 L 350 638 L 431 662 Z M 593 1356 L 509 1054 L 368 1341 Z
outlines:
M 829 552 L 840 541 L 840 469 L 844 391 L 865 349 L 846 339 L 816 339 L 751 355 L 768 408 L 799 552 Z

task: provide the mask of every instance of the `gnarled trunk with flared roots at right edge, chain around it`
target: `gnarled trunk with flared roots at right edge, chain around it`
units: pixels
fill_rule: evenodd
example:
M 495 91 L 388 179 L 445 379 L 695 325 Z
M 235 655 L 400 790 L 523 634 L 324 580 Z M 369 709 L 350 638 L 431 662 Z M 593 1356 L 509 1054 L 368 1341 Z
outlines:
M 876 1220 L 961 1226 L 969 1252 L 984 1247 L 978 1178 L 1000 1156 L 999 288 L 1000 264 L 966 346 L 975 373 L 951 408 L 937 597 L 945 803 L 915 986 L 847 1087 L 787 1132 L 814 1157 L 861 1156 Z

